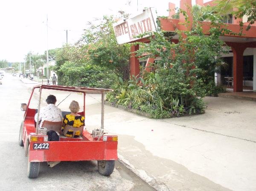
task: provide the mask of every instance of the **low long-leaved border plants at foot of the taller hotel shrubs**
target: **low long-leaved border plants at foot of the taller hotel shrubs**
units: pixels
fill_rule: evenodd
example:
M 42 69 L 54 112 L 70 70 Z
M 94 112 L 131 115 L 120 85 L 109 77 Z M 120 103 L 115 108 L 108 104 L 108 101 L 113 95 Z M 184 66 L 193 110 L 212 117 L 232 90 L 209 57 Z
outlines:
M 143 111 L 151 118 L 204 113 L 206 104 L 195 96 L 195 89 L 187 89 L 184 83 L 177 82 L 180 81 L 178 78 L 162 74 L 150 73 L 147 80 L 134 78 L 124 82 L 119 78 L 114 92 L 109 92 L 106 100 Z M 166 86 L 166 82 L 173 86 Z

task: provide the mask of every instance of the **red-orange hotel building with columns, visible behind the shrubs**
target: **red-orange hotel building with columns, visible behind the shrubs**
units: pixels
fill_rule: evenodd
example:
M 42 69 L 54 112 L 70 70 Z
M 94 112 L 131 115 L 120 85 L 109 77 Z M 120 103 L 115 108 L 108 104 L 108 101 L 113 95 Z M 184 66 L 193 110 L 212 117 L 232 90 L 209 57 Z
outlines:
M 216 1 L 210 1 L 207 3 L 203 3 L 203 0 L 196 0 L 196 4 L 199 6 L 214 6 Z M 188 7 L 192 7 L 191 0 L 180 0 L 180 8 L 185 10 L 188 13 L 189 21 L 192 23 L 192 16 L 189 13 Z M 181 25 L 180 23 L 185 22 L 185 17 L 183 14 L 180 14 L 179 19 L 172 19 L 172 15 L 175 14 L 175 4 L 169 3 L 169 17 L 160 19 L 161 28 L 165 31 L 175 31 L 175 29 L 179 29 L 182 31 L 190 30 L 191 25 L 186 27 Z M 236 20 L 232 14 L 227 15 L 225 17 L 227 20 L 224 21 L 228 25 L 228 29 L 233 32 L 238 33 L 240 26 L 239 21 Z M 215 75 L 216 84 L 224 84 L 226 76 L 230 76 L 233 79 L 233 91 L 243 91 L 244 86 L 251 86 L 253 90 L 256 90 L 256 23 L 251 26 L 249 31 L 246 31 L 247 27 L 246 20 L 244 20 L 244 31 L 242 36 L 239 35 L 224 35 L 221 36 L 221 40 L 223 40 L 227 46 L 230 46 L 231 50 L 229 54 L 222 55 L 224 61 L 226 61 L 230 67 L 227 71 L 222 71 L 221 74 Z M 203 31 L 204 34 L 209 34 L 210 23 L 203 22 Z M 125 30 L 124 30 L 125 31 Z M 134 40 L 130 42 L 149 42 L 148 38 L 145 37 L 143 39 Z M 175 37 L 172 41 L 176 41 Z M 131 75 L 137 76 L 140 74 L 140 62 L 138 57 L 133 53 L 138 50 L 139 45 L 131 46 L 131 59 L 130 59 L 130 73 Z M 149 63 L 153 63 L 154 59 L 149 58 L 147 60 L 146 66 Z

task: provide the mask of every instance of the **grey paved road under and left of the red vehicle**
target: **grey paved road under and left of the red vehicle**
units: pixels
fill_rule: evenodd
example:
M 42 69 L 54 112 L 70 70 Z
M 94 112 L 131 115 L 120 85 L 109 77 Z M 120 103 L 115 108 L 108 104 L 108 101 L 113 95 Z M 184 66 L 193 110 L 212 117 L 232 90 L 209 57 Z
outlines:
M 125 166 L 116 162 L 110 177 L 98 173 L 96 161 L 61 162 L 53 168 L 41 163 L 39 177 L 26 177 L 27 158 L 18 145 L 20 123 L 33 83 L 6 74 L 0 85 L 0 191 L 154 191 Z

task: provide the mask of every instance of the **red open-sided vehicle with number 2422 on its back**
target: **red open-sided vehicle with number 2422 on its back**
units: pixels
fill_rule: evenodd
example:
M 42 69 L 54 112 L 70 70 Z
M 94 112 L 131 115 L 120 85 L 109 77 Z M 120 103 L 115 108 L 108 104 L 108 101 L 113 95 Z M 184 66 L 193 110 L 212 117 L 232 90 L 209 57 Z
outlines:
M 37 90 L 39 91 L 39 95 Z M 45 91 L 45 92 L 44 92 Z M 38 177 L 40 162 L 47 162 L 48 166 L 53 167 L 61 161 L 82 161 L 82 160 L 97 160 L 98 171 L 104 176 L 112 174 L 115 160 L 117 160 L 117 136 L 105 135 L 103 131 L 104 126 L 104 93 L 113 91 L 111 89 L 101 88 L 85 88 L 85 87 L 68 87 L 68 86 L 50 86 L 38 85 L 32 89 L 28 104 L 21 104 L 21 110 L 25 111 L 23 122 L 20 125 L 19 145 L 24 146 L 25 156 L 28 157 L 27 176 L 29 178 Z M 60 103 L 64 107 L 60 107 L 62 114 L 69 114 L 68 106 L 71 100 L 81 100 L 83 103 L 83 111 L 79 114 L 85 116 L 85 98 L 86 94 L 101 94 L 101 129 L 88 132 L 86 126 L 78 138 L 69 138 L 60 136 L 59 141 L 48 141 L 48 136 L 44 133 L 42 128 L 39 128 L 38 123 L 35 127 L 34 116 L 43 105 L 41 99 L 44 96 L 53 94 L 58 100 L 64 97 L 66 101 Z M 57 94 L 57 95 L 56 95 Z M 72 94 L 72 99 L 67 99 Z M 66 97 L 67 96 L 67 97 Z M 38 99 L 39 97 L 39 99 Z M 35 103 L 32 100 L 36 100 Z M 59 104 L 60 104 L 59 103 Z M 46 104 L 46 103 L 45 103 Z M 80 103 L 79 103 L 80 105 Z M 81 107 L 80 105 L 80 107 Z M 39 113 L 38 112 L 38 113 Z M 61 132 L 61 123 L 49 122 L 43 124 L 47 130 L 54 130 Z M 45 128 L 44 128 L 45 130 Z

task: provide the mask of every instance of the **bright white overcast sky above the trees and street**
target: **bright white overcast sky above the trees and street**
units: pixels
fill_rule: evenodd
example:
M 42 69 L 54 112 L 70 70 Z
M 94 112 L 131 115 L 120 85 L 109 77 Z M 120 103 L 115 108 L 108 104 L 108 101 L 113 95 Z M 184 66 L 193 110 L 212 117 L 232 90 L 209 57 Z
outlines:
M 48 14 L 48 49 L 75 43 L 88 21 L 104 14 L 116 15 L 123 10 L 140 14 L 144 7 L 155 7 L 157 14 L 168 15 L 168 3 L 179 6 L 179 0 L 0 0 L 0 60 L 23 62 L 25 55 L 43 54 L 47 49 L 46 18 Z

